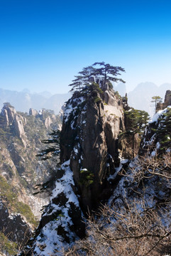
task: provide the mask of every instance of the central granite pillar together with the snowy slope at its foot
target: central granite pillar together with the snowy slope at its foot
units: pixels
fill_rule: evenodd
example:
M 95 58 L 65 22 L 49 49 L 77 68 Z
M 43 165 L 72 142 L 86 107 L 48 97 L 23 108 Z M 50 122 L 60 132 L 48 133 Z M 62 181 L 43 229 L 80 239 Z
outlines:
M 93 83 L 90 88 L 88 94 L 75 92 L 66 103 L 60 133 L 62 166 L 35 238 L 21 255 L 62 255 L 64 247 L 84 237 L 87 210 L 107 200 L 120 179 L 116 167 L 125 150 L 119 134 L 125 132 L 126 102 L 108 87 L 99 90 Z M 112 182 L 111 175 L 117 176 Z

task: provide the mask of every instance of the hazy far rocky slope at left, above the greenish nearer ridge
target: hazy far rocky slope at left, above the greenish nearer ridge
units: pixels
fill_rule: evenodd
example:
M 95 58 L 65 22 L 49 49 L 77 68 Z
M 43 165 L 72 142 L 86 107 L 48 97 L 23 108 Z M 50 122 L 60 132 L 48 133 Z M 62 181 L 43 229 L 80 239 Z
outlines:
M 18 113 L 9 103 L 5 103 L 0 114 L 0 174 L 12 186 L 21 189 L 21 201 L 25 201 L 30 206 L 35 205 L 36 198 L 27 196 L 28 192 L 32 194 L 34 186 L 46 181 L 50 169 L 53 169 L 50 161 L 42 164 L 36 154 L 44 147 L 41 140 L 46 139 L 47 133 L 52 129 L 57 129 L 60 118 L 55 117 L 55 114 L 48 110 L 44 110 L 44 113 L 44 115 L 39 114 L 36 110 L 30 110 L 29 115 Z M 50 119 L 48 125 L 47 119 Z M 18 180 L 20 178 L 21 181 Z M 39 210 L 41 204 L 38 203 Z M 35 210 L 35 206 L 33 210 L 40 217 L 39 210 Z

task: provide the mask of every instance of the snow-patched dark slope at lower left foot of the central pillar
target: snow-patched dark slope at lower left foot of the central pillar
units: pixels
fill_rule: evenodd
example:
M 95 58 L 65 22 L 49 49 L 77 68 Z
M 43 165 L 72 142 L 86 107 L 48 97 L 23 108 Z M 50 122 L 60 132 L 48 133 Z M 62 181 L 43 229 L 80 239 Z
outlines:
M 40 233 L 35 238 L 31 250 L 33 255 L 62 255 L 63 248 L 77 239 L 77 231 L 75 232 L 74 228 L 77 223 L 72 213 L 76 214 L 76 218 L 78 214 L 79 219 L 82 218 L 82 213 L 79 210 L 78 198 L 72 189 L 75 183 L 69 165 L 70 161 L 62 164 L 64 174 L 55 182 L 50 204 L 42 215 L 38 228 Z M 81 226 L 77 227 L 78 230 L 79 228 Z

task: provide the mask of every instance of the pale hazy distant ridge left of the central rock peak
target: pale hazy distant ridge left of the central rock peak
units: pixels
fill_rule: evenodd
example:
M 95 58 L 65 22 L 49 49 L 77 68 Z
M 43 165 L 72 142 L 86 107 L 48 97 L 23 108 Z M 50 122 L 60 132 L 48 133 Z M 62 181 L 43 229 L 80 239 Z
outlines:
M 0 88 L 0 108 L 5 102 L 10 102 L 20 112 L 28 112 L 30 108 L 35 110 L 45 108 L 58 114 L 69 97 L 70 93 L 51 95 L 50 92 L 31 93 L 26 90 L 17 92 Z

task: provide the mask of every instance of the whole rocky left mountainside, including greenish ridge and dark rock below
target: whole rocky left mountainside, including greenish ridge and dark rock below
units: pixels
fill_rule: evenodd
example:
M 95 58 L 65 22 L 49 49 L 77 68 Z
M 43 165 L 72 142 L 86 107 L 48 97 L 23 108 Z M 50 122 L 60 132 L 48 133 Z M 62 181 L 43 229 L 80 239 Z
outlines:
M 55 164 L 50 160 L 43 163 L 36 154 L 44 148 L 42 139 L 57 129 L 57 123 L 60 117 L 50 110 L 31 109 L 30 114 L 24 114 L 9 103 L 1 110 L 0 235 L 10 240 L 14 249 L 16 242 L 23 245 L 31 237 L 35 219 L 40 218 L 40 209 L 48 203 L 48 193 L 33 196 L 33 192 L 36 184 L 47 181 L 55 171 Z M 1 251 L 9 253 L 5 248 L 1 247 Z

